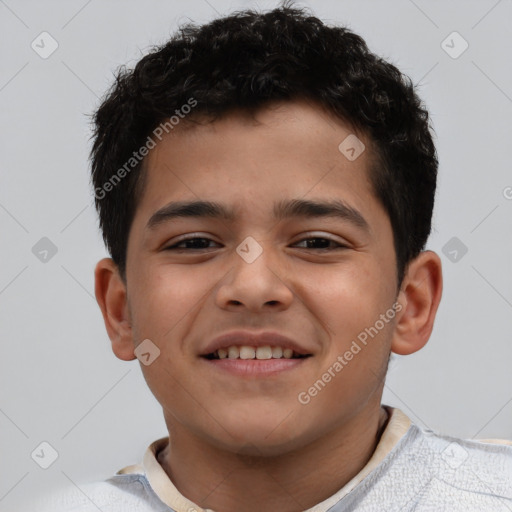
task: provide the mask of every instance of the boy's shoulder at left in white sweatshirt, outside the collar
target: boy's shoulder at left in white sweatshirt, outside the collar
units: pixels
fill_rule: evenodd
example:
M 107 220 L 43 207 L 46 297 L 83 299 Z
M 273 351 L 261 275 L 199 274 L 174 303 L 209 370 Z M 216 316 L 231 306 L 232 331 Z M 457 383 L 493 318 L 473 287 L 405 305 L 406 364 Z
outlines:
M 38 502 L 38 512 L 172 512 L 142 474 L 114 475 L 101 482 L 69 487 Z

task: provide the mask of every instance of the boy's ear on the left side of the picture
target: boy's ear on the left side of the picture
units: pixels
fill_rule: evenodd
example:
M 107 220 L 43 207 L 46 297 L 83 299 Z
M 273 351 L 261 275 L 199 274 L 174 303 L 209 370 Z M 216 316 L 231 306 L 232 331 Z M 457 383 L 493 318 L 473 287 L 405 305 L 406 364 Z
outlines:
M 131 361 L 133 335 L 124 283 L 117 265 L 111 258 L 98 262 L 94 271 L 96 300 L 103 314 L 105 327 L 112 342 L 114 354 L 123 361 Z

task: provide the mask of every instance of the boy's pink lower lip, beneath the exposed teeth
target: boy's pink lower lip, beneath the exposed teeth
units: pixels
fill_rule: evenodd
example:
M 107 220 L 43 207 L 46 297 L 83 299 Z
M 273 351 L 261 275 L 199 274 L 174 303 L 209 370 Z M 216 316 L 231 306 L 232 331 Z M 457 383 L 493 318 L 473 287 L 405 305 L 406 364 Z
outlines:
M 298 368 L 310 357 L 296 359 L 202 359 L 215 368 L 233 375 L 263 377 Z

